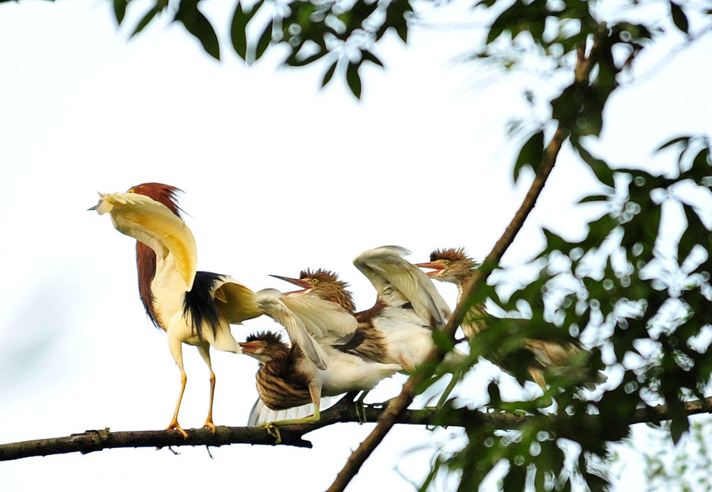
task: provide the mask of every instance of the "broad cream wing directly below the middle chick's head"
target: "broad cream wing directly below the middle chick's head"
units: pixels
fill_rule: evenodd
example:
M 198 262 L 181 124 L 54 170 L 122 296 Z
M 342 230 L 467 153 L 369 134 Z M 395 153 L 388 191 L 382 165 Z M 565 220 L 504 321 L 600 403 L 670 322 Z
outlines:
M 354 315 L 315 293 L 292 293 L 283 295 L 282 300 L 321 345 L 346 343 L 356 333 L 358 322 Z

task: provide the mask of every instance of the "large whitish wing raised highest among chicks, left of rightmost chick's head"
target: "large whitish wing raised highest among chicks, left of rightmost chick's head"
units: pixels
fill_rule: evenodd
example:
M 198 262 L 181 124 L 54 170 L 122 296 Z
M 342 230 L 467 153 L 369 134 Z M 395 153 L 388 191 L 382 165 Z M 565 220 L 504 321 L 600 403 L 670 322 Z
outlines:
M 387 305 L 409 302 L 427 324 L 434 320 L 442 326 L 450 309 L 428 276 L 403 258 L 409 254 L 400 246 L 381 246 L 361 253 L 354 265 L 371 281 L 379 300 Z

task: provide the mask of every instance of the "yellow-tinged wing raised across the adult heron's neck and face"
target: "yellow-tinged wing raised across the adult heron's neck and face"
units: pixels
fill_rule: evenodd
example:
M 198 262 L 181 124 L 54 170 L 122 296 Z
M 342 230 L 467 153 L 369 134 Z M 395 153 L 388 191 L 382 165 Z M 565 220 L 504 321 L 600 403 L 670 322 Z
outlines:
M 100 193 L 94 208 L 100 215 L 109 213 L 117 231 L 141 241 L 157 256 L 172 254 L 185 290 L 192 289 L 198 263 L 195 239 L 167 206 L 138 193 Z

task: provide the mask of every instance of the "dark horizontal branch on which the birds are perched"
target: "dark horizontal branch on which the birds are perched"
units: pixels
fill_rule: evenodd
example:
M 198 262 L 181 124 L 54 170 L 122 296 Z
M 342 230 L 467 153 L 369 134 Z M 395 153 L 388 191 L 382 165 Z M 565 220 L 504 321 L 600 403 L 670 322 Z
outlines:
M 684 404 L 687 415 L 712 413 L 712 398 L 695 400 Z M 377 422 L 384 409 L 370 405 L 365 407 L 366 422 Z M 427 410 L 406 410 L 398 418 L 397 424 L 435 425 L 435 414 Z M 459 426 L 461 422 L 468 424 L 488 424 L 498 429 L 518 429 L 529 422 L 531 417 L 521 417 L 507 412 L 489 413 L 468 409 L 454 410 L 451 422 L 443 422 L 442 426 Z M 629 418 L 629 424 L 643 422 L 658 423 L 672 419 L 667 405 L 658 405 L 637 409 Z M 580 417 L 577 417 L 580 418 Z M 310 441 L 303 439 L 303 434 L 315 431 L 325 426 L 345 422 L 359 422 L 355 407 L 349 399 L 322 414 L 322 419 L 315 424 L 293 425 L 281 429 L 281 443 L 286 446 L 311 447 Z M 0 461 L 27 458 L 28 456 L 48 456 L 50 454 L 66 454 L 80 452 L 82 454 L 102 449 L 112 448 L 160 448 L 164 446 L 224 446 L 225 444 L 266 444 L 275 445 L 276 439 L 266 429 L 256 427 L 226 427 L 219 426 L 213 436 L 209 429 L 187 429 L 188 439 L 183 439 L 176 431 L 126 431 L 111 432 L 109 429 L 86 431 L 83 434 L 72 434 L 66 437 L 37 439 L 36 441 L 14 442 L 0 444 Z

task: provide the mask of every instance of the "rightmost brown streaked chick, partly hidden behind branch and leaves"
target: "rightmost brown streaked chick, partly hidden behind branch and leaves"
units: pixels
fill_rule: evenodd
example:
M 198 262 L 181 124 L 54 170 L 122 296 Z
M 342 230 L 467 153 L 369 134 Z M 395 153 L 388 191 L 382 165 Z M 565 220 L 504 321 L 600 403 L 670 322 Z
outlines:
M 471 278 L 473 271 L 480 266 L 480 263 L 467 256 L 464 248 L 444 248 L 433 251 L 430 254 L 429 262 L 416 263 L 416 266 L 430 268 L 431 271 L 427 275 L 434 280 L 456 284 L 458 288 L 457 303 L 460 303 L 468 280 Z M 482 333 L 483 330 L 488 328 L 493 319 L 493 316 L 486 312 L 484 303 L 479 303 L 468 309 L 460 326 L 465 337 L 468 340 L 473 340 L 478 333 Z M 520 318 L 513 318 L 511 321 L 513 323 L 528 323 L 528 320 Z M 543 392 L 548 389 L 544 374 L 545 370 L 566 370 L 567 364 L 572 357 L 585 351 L 578 343 L 568 340 L 554 340 L 552 338 L 525 338 L 522 348 L 532 356 L 530 357 L 527 372 Z M 511 367 L 508 367 L 503 357 L 498 354 L 493 354 L 492 362 L 511 372 Z M 582 375 L 582 377 L 585 377 L 585 375 Z M 599 373 L 597 382 L 603 382 L 604 380 L 604 375 Z M 590 385 L 587 386 L 590 387 Z

